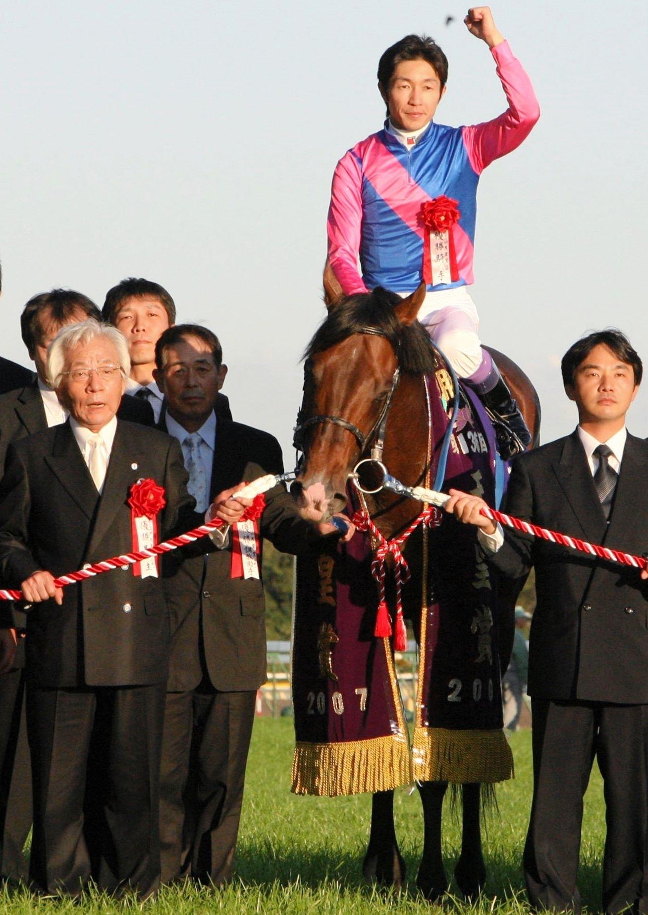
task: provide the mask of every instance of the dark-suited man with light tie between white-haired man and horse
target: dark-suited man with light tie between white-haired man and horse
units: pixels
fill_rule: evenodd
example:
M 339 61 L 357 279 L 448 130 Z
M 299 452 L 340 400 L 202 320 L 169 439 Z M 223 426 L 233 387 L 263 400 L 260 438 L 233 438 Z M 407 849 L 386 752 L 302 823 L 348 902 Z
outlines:
M 235 490 L 242 480 L 282 473 L 279 443 L 248 425 L 217 420 L 224 367 L 218 338 L 207 328 L 166 330 L 156 362 L 165 429 L 182 445 L 197 509 L 213 499 L 237 522 L 249 502 L 237 500 Z M 238 525 L 227 549 L 189 559 L 165 579 L 172 647 L 160 788 L 163 882 L 186 876 L 218 886 L 231 877 L 255 697 L 267 671 L 262 538 L 299 553 L 335 531 L 333 524 L 304 521 L 276 487 L 256 531 L 251 522 Z M 250 544 L 251 554 L 239 552 L 237 542 Z

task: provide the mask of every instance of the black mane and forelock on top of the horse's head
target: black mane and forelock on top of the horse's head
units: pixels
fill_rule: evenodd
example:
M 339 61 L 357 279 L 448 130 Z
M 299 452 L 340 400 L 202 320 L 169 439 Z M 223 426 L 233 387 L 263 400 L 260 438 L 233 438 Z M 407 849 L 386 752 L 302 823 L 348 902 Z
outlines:
M 441 365 L 430 338 L 418 321 L 402 324 L 394 312 L 402 299 L 378 286 L 370 293 L 347 296 L 329 311 L 306 347 L 304 359 L 323 352 L 352 334 L 375 329 L 386 337 L 398 355 L 400 371 L 409 374 L 436 371 Z

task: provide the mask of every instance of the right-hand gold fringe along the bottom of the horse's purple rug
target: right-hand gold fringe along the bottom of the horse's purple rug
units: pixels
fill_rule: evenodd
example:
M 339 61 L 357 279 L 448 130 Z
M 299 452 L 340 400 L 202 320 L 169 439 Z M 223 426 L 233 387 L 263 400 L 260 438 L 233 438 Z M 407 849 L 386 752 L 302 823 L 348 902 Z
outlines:
M 417 781 L 494 782 L 515 776 L 504 731 L 415 727 L 412 770 Z

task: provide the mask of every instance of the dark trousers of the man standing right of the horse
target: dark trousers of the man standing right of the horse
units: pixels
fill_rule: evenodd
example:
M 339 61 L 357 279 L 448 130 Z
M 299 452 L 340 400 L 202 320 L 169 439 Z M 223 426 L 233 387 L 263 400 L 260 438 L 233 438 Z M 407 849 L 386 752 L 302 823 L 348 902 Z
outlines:
M 648 705 L 533 699 L 532 710 L 534 792 L 524 853 L 531 904 L 580 910 L 583 794 L 596 756 L 607 824 L 604 909 L 648 911 Z

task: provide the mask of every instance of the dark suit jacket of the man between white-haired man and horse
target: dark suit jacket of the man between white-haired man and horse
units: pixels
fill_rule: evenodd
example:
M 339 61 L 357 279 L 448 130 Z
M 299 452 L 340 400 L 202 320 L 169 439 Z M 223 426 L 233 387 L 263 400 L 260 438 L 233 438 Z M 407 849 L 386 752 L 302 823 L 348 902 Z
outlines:
M 218 419 L 212 499 L 241 480 L 250 482 L 282 471 L 276 438 L 249 425 Z M 305 552 L 319 540 L 313 524 L 300 518 L 282 486 L 266 493 L 260 533 L 284 553 Z M 172 628 L 169 692 L 193 689 L 203 673 L 222 691 L 256 690 L 265 683 L 262 582 L 232 579 L 230 565 L 231 537 L 227 548 L 207 558 L 188 559 L 165 578 Z

